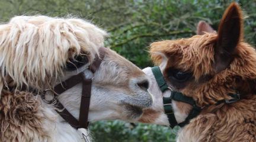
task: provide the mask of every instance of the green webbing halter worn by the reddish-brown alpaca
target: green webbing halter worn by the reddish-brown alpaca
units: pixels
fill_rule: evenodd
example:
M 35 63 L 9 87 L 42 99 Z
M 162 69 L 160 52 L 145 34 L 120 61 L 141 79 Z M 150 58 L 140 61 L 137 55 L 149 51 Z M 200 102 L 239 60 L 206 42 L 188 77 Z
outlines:
M 151 70 L 153 72 L 153 75 L 155 76 L 155 79 L 156 79 L 156 82 L 158 83 L 159 88 L 164 93 L 169 88 L 168 88 L 167 83 L 165 82 L 164 76 L 162 75 L 160 68 L 158 66 L 155 66 L 155 67 L 152 67 Z M 223 99 L 223 100 L 217 101 L 217 103 L 215 105 L 219 105 L 222 103 L 231 104 L 240 99 L 239 93 L 229 94 L 229 96 L 231 96 L 232 99 Z M 181 123 L 178 123 L 175 118 L 174 110 L 171 105 L 172 99 L 174 101 L 185 102 L 185 103 L 193 106 L 193 108 L 191 109 L 187 118 L 185 118 L 185 120 Z M 179 125 L 180 127 L 184 127 L 185 125 L 187 125 L 190 122 L 191 119 L 197 117 L 197 115 L 199 115 L 201 110 L 203 109 L 196 104 L 196 101 L 194 101 L 193 98 L 191 98 L 189 96 L 185 96 L 181 92 L 175 92 L 175 91 L 171 91 L 171 96 L 169 96 L 169 97 L 163 96 L 163 103 L 164 103 L 164 111 L 168 117 L 169 126 L 171 128 L 174 128 L 176 125 Z

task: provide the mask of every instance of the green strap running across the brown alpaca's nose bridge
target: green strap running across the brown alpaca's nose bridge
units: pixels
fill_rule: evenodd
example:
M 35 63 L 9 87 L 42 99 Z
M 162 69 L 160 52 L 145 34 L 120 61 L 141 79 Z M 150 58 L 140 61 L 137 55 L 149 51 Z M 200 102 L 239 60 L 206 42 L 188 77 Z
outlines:
M 162 75 L 162 72 L 158 66 L 151 67 L 151 70 L 153 72 L 153 75 L 155 76 L 156 82 L 158 83 L 159 88 L 162 92 L 166 91 L 168 89 L 168 85 L 165 82 L 164 76 Z

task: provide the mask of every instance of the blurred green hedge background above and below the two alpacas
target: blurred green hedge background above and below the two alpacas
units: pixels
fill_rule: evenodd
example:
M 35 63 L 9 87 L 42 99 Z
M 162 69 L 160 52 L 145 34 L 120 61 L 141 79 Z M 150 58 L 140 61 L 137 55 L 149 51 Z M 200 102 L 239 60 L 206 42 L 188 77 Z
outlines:
M 143 68 L 153 66 L 148 46 L 153 41 L 190 37 L 197 22 L 215 30 L 231 0 L 0 0 L 0 22 L 15 15 L 78 17 L 104 28 L 105 45 Z M 256 44 L 256 0 L 238 2 L 244 10 L 245 39 Z M 95 141 L 175 141 L 171 128 L 100 121 L 90 125 Z

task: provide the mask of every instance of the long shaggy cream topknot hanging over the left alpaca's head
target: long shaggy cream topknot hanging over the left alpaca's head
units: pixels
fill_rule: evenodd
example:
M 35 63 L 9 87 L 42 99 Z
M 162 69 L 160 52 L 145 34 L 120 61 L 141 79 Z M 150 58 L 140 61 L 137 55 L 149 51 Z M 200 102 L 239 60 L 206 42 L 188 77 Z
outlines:
M 105 35 L 104 30 L 76 18 L 12 18 L 0 25 L 0 92 L 10 86 L 41 89 L 44 83 L 50 87 L 76 54 L 89 54 L 92 62 Z

